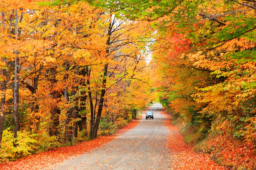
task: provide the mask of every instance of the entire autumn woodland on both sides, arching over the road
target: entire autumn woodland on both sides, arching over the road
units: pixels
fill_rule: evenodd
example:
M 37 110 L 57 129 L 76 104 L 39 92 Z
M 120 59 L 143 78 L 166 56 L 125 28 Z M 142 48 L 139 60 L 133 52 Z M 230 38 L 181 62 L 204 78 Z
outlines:
M 112 134 L 158 95 L 197 152 L 256 169 L 255 3 L 1 1 L 1 160 Z

